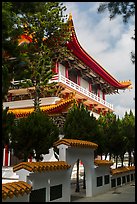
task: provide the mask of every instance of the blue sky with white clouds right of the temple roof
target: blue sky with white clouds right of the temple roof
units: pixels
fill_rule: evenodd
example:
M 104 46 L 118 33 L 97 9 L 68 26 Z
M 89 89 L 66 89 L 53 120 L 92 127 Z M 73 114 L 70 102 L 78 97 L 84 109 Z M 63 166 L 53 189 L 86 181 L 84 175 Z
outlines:
M 133 89 L 119 90 L 119 94 L 107 95 L 120 118 L 131 109 L 135 114 L 135 65 L 130 52 L 135 50 L 131 39 L 135 19 L 124 24 L 121 16 L 109 20 L 109 13 L 97 13 L 99 2 L 63 2 L 66 14 L 72 14 L 74 28 L 81 46 L 118 81 L 131 80 Z

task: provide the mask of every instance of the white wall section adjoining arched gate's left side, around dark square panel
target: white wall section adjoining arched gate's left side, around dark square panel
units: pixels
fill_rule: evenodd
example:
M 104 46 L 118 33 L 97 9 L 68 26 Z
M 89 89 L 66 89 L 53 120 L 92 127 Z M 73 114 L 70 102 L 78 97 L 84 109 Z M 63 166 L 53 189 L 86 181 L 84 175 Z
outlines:
M 70 202 L 70 170 L 31 173 L 28 183 L 33 183 L 33 189 L 46 188 L 46 202 Z M 62 185 L 62 197 L 51 200 L 50 187 Z

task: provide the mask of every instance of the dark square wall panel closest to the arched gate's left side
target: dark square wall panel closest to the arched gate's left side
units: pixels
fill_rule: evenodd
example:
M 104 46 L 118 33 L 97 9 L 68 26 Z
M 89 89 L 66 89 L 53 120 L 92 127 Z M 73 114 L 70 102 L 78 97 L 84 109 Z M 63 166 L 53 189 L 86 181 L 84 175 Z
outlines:
M 62 184 L 50 187 L 50 201 L 62 198 Z

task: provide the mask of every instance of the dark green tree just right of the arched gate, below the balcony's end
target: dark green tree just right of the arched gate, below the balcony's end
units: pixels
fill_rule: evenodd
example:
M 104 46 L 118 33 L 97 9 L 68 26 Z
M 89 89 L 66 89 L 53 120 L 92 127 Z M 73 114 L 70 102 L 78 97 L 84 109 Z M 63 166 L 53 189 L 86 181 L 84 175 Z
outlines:
M 118 164 L 118 157 L 125 153 L 125 141 L 121 131 L 121 120 L 116 118 L 114 113 L 108 112 L 105 116 L 98 118 L 99 129 L 101 129 L 100 139 L 98 142 L 101 147 L 101 153 L 105 157 L 109 154 L 109 159 L 114 156 L 116 158 L 116 168 Z M 123 165 L 123 163 L 122 163 Z

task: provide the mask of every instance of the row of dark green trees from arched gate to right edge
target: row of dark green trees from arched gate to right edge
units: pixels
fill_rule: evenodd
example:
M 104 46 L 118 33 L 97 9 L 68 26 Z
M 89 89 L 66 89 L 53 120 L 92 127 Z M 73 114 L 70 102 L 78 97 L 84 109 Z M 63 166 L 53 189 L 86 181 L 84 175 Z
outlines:
M 101 147 L 98 153 L 109 154 L 116 158 L 116 168 L 118 158 L 121 158 L 123 166 L 124 154 L 129 153 L 129 165 L 131 164 L 131 152 L 135 154 L 135 116 L 132 111 L 125 113 L 124 118 L 116 118 L 113 113 L 107 113 L 105 116 L 98 118 L 99 140 L 98 145 Z

